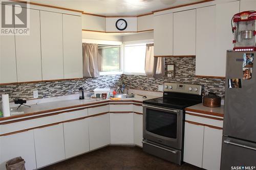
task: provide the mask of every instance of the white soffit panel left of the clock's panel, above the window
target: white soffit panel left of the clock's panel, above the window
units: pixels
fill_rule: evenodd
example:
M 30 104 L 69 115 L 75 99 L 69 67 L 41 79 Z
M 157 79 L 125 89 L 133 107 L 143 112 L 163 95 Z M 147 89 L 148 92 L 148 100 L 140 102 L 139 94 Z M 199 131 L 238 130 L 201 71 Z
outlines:
M 105 17 L 82 14 L 82 29 L 105 32 Z

